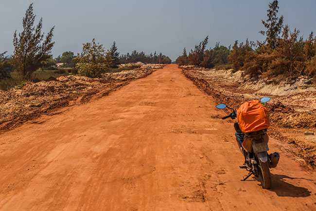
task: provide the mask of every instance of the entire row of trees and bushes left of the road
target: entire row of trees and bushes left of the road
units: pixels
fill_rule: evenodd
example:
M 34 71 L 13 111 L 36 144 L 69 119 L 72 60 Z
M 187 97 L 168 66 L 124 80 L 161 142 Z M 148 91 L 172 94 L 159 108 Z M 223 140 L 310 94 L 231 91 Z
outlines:
M 73 52 L 66 51 L 53 59 L 54 26 L 45 35 L 42 33 L 43 19 L 35 25 L 35 17 L 31 3 L 22 20 L 22 32 L 14 33 L 13 55 L 5 56 L 7 52 L 0 53 L 0 79 L 11 77 L 10 72 L 14 71 L 16 76 L 32 80 L 36 70 L 53 69 L 56 63 L 63 63 L 63 67 L 75 67 L 79 75 L 87 77 L 101 77 L 109 68 L 118 68 L 119 64 L 126 62 L 171 63 L 169 57 L 162 53 L 157 55 L 156 52 L 154 55 L 145 55 L 144 52 L 133 51 L 120 56 L 115 41 L 110 49 L 105 50 L 95 39 L 84 43 L 82 52 L 76 56 Z

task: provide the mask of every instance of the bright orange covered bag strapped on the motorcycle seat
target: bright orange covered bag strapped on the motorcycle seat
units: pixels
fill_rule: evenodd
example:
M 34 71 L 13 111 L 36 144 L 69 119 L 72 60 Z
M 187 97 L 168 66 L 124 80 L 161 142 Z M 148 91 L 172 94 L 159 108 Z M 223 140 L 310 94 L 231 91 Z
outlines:
M 243 133 L 260 131 L 270 125 L 268 111 L 260 100 L 243 103 L 237 110 L 237 119 Z

